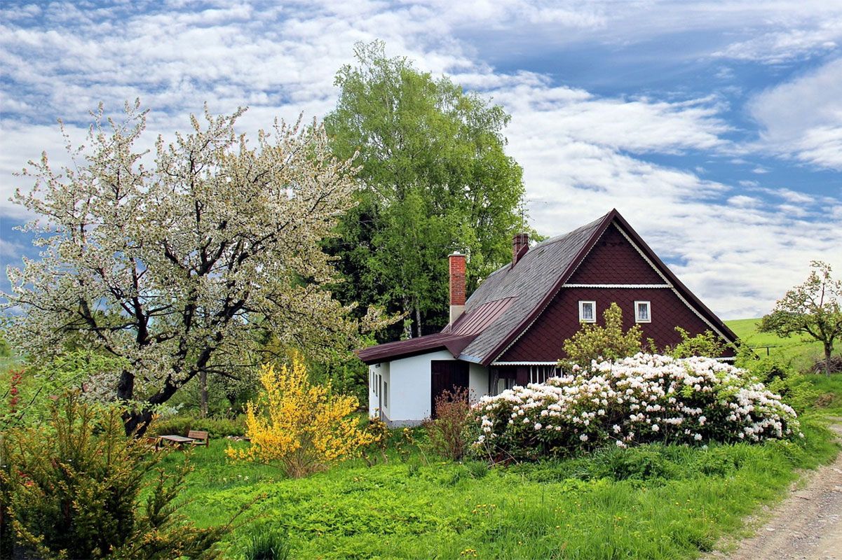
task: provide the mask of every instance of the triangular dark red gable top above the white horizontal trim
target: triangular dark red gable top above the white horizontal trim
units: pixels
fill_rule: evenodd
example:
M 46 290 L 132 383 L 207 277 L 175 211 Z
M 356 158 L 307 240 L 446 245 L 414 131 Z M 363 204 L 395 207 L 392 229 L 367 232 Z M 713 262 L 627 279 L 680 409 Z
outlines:
M 569 284 L 663 284 L 637 249 L 610 225 L 568 279 Z

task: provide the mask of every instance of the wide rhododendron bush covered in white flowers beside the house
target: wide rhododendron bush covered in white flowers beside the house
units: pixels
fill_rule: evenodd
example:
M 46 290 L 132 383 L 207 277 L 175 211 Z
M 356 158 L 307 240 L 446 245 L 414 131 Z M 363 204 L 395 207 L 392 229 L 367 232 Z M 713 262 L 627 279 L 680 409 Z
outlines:
M 751 374 L 711 358 L 637 354 L 591 362 L 473 407 L 477 452 L 492 459 L 568 455 L 649 441 L 765 441 L 800 436 L 797 415 Z

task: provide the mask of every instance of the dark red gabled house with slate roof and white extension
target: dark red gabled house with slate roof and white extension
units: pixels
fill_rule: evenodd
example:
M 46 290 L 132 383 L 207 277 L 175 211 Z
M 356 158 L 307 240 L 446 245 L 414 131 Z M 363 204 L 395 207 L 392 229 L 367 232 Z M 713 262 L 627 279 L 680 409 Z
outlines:
M 680 326 L 711 330 L 726 342 L 737 335 L 707 309 L 619 212 L 566 235 L 529 246 L 514 236 L 512 262 L 465 299 L 466 257 L 450 259 L 450 324 L 438 334 L 357 351 L 369 365 L 369 412 L 388 425 L 415 425 L 434 415 L 445 390 L 475 397 L 557 374 L 562 343 L 581 323 L 602 323 L 612 302 L 624 328 L 639 324 L 643 340 L 674 345 Z M 728 348 L 722 359 L 733 359 Z

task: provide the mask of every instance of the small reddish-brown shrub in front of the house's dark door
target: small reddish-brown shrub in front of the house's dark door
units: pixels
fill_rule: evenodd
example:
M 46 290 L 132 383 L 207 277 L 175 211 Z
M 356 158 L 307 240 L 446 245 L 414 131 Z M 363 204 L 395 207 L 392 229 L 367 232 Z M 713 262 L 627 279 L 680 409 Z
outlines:
M 453 392 L 442 392 L 435 398 L 435 410 L 438 418 L 424 423 L 429 446 L 442 457 L 459 461 L 470 443 L 467 433 L 471 426 L 468 390 L 456 388 Z

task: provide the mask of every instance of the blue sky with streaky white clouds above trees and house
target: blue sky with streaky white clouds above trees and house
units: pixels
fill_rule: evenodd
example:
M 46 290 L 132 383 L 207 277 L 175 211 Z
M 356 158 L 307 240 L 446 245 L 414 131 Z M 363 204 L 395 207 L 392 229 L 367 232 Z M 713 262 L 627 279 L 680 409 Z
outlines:
M 149 108 L 149 146 L 248 107 L 321 119 L 354 44 L 383 40 L 511 115 L 531 224 L 618 209 L 722 319 L 768 313 L 812 260 L 842 277 L 842 2 L 510 0 L 0 4 L 0 266 L 37 256 L 9 202 L 57 124 Z M 8 279 L 0 275 L 0 290 Z

